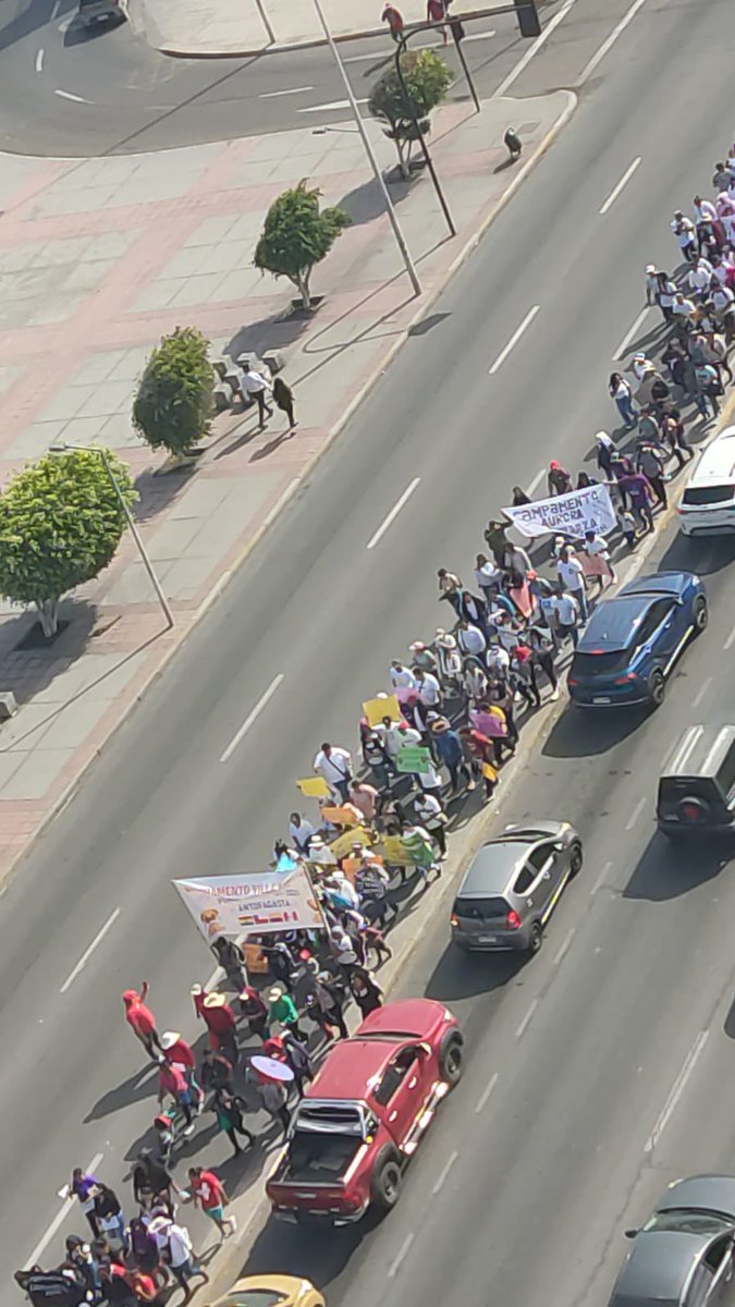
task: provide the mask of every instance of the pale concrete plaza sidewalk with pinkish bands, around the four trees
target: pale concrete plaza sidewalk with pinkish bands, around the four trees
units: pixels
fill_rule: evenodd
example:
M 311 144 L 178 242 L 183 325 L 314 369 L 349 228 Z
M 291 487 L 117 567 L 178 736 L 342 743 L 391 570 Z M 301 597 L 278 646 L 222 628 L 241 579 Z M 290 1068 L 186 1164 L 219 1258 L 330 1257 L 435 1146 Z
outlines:
M 0 610 L 0 689 L 21 708 L 0 727 L 0 877 L 64 802 L 84 769 L 162 669 L 212 597 L 298 488 L 412 322 L 451 276 L 523 173 L 570 118 L 566 91 L 437 115 L 433 149 L 459 235 L 446 239 L 430 182 L 394 188 L 424 293 L 412 298 L 374 182 L 349 125 L 67 163 L 0 162 L 0 484 L 59 440 L 98 440 L 131 465 L 141 533 L 174 608 L 162 616 L 132 541 L 61 606 L 51 648 L 20 647 L 34 613 Z M 501 167 L 507 124 L 523 167 Z M 382 162 L 392 146 L 370 124 Z M 7 165 L 7 169 L 5 169 Z M 315 271 L 324 303 L 289 316 L 290 284 L 251 264 L 268 204 L 307 174 L 353 226 Z M 105 212 L 103 230 L 99 216 Z M 165 231 L 165 239 L 162 233 Z M 178 324 L 214 353 L 279 348 L 296 388 L 297 434 L 280 414 L 217 420 L 196 471 L 156 476 L 162 456 L 133 433 L 145 358 Z

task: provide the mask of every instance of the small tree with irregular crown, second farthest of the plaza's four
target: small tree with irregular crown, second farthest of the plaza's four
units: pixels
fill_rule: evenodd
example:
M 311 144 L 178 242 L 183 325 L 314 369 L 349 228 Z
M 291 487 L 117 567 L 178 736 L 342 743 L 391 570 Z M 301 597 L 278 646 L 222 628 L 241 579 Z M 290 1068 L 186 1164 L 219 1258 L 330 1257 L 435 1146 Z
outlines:
M 255 247 L 255 267 L 293 281 L 305 308 L 311 308 L 309 281 L 314 264 L 328 255 L 343 227 L 352 222 L 349 213 L 337 207 L 319 210 L 320 195 L 316 187 L 307 190 L 306 180 L 284 191 L 268 209 Z

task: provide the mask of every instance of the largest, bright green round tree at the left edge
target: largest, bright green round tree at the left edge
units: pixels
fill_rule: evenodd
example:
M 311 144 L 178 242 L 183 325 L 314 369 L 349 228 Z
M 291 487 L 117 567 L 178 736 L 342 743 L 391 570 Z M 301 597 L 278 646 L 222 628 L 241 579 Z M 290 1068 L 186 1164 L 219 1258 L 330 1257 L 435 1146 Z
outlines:
M 137 495 L 128 468 L 105 450 L 127 503 Z M 112 561 L 126 516 L 99 454 L 47 454 L 0 494 L 0 593 L 35 604 L 43 634 L 56 634 L 59 600 Z

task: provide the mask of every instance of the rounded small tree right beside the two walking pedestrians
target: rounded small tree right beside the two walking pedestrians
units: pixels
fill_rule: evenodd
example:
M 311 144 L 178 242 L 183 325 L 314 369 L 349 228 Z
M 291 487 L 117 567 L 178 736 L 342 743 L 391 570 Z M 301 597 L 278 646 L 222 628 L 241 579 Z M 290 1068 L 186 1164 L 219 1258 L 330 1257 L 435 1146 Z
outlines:
M 214 370 L 209 341 L 195 327 L 177 327 L 153 350 L 137 387 L 132 420 L 154 448 L 187 454 L 209 431 Z

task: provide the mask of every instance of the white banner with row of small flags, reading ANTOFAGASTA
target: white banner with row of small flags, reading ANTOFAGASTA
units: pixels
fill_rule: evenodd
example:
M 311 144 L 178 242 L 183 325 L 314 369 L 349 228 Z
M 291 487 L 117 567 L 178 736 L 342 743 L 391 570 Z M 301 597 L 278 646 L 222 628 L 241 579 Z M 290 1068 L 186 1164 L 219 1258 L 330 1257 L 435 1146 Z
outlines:
M 273 870 L 173 882 L 205 940 L 324 929 L 322 910 L 301 863 L 284 855 Z

